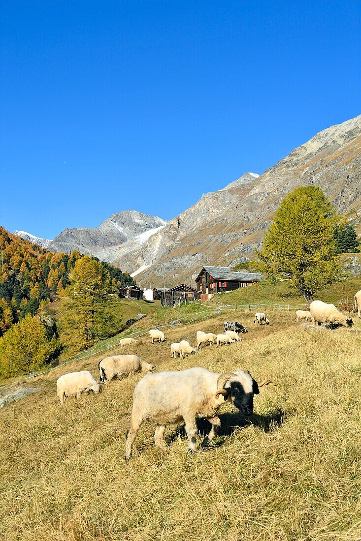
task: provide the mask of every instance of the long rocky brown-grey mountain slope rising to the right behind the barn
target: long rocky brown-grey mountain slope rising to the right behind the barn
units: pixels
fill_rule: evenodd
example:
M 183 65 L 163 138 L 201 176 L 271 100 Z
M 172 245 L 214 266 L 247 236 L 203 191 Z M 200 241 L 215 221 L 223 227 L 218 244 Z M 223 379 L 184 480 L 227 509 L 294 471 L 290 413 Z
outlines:
M 361 115 L 337 124 L 292 150 L 261 176 L 246 173 L 116 261 L 142 284 L 190 283 L 202 265 L 234 266 L 252 259 L 283 197 L 298 186 L 321 187 L 339 213 L 359 229 Z M 164 278 L 163 278 L 164 277 Z

